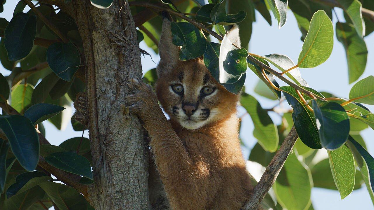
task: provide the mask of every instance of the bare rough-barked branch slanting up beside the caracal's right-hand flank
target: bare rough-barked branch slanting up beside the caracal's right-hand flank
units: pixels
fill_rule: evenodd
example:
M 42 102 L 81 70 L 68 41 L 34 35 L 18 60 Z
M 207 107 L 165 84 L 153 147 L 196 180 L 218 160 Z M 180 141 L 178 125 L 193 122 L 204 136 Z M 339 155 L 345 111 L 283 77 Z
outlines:
M 253 189 L 253 196 L 244 205 L 243 210 L 257 209 L 269 189 L 273 186 L 279 172 L 281 171 L 288 157 L 288 154 L 291 152 L 292 147 L 295 145 L 297 138 L 298 135 L 296 133 L 296 129 L 294 126 L 292 126 L 292 129 L 287 135 L 286 139 L 283 141 L 281 148 L 279 148 L 273 160 L 266 167 L 266 170 L 262 175 L 260 182 L 258 182 L 258 184 Z

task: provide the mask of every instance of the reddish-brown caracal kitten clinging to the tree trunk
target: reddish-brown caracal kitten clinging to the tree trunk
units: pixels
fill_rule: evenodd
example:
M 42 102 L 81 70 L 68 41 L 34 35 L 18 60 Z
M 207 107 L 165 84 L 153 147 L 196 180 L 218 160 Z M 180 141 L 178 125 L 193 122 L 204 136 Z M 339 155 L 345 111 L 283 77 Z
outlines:
M 229 39 L 240 46 L 239 29 Z M 211 76 L 202 58 L 179 60 L 165 19 L 156 95 L 132 80 L 127 97 L 150 136 L 150 201 L 154 209 L 239 210 L 252 186 L 238 140 L 238 95 Z M 135 81 L 135 82 L 134 82 Z M 159 107 L 160 101 L 167 120 Z

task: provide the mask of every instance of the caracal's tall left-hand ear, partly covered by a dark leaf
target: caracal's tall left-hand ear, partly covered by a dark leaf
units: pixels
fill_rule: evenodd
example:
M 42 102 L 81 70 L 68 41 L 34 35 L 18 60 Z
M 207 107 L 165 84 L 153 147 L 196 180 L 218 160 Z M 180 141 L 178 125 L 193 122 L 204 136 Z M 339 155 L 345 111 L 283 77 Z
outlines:
M 157 75 L 167 74 L 179 60 L 179 47 L 172 43 L 170 19 L 167 13 L 163 13 L 162 32 L 159 43 L 160 62 L 157 66 Z

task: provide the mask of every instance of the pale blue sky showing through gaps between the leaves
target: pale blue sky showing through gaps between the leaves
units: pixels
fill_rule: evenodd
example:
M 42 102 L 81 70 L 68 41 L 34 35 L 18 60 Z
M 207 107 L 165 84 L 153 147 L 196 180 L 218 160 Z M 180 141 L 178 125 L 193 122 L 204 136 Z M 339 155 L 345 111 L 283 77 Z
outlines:
M 18 1 L 9 0 L 4 5 L 4 12 L 0 13 L 0 17 L 6 18 L 8 21 L 11 19 L 13 10 Z M 337 13 L 340 20 L 344 20 L 341 10 L 337 9 Z M 300 40 L 301 33 L 297 27 L 297 22 L 294 15 L 288 10 L 288 18 L 286 24 L 278 29 L 276 20 L 273 18 L 273 26 L 262 18 L 262 16 L 256 12 L 256 20 L 253 24 L 253 32 L 251 41 L 249 43 L 249 52 L 258 55 L 268 55 L 271 53 L 279 53 L 289 56 L 293 61 L 297 61 L 298 55 L 301 51 L 302 41 Z M 336 18 L 332 20 L 335 26 Z M 365 37 L 365 41 L 368 47 L 368 62 L 367 68 L 360 79 L 365 78 L 369 75 L 374 75 L 374 33 Z M 153 50 L 148 48 L 144 42 L 141 42 L 140 47 L 146 50 L 152 56 L 154 62 L 159 61 L 159 56 L 153 53 Z M 147 72 L 151 68 L 156 67 L 149 56 L 142 56 L 142 69 L 143 73 Z M 309 83 L 309 86 L 318 91 L 327 91 L 334 93 L 340 97 L 348 98 L 349 90 L 353 84 L 348 84 L 348 73 L 346 55 L 343 46 L 334 37 L 334 48 L 330 58 L 313 69 L 300 69 L 302 77 Z M 0 72 L 3 75 L 8 75 L 10 71 L 4 70 L 0 65 Z M 245 87 L 246 92 L 255 96 L 263 108 L 271 108 L 276 102 L 269 99 L 265 99 L 261 96 L 256 95 L 253 92 L 255 85 L 257 84 L 258 78 L 249 71 L 247 75 Z M 282 84 L 281 84 L 282 85 Z M 374 106 L 368 106 L 371 110 Z M 271 117 L 275 123 L 280 123 L 280 118 L 271 113 Z M 64 131 L 57 130 L 49 122 L 44 123 L 46 128 L 46 138 L 54 145 L 59 145 L 64 140 L 72 137 L 81 136 L 82 132 L 75 132 L 70 123 Z M 257 142 L 253 137 L 252 131 L 254 129 L 251 119 L 246 116 L 242 121 L 243 131 L 240 133 L 240 137 L 244 141 L 245 145 L 249 148 L 243 149 L 245 158 L 248 158 L 249 150 Z M 373 135 L 374 131 L 366 129 L 361 132 L 362 137 L 367 143 L 368 151 L 374 154 L 374 142 Z M 88 137 L 88 132 L 85 132 Z M 338 191 L 313 188 L 312 189 L 312 202 L 316 210 L 351 210 L 351 209 L 373 209 L 370 197 L 365 187 L 359 190 L 355 190 L 344 200 L 340 199 Z

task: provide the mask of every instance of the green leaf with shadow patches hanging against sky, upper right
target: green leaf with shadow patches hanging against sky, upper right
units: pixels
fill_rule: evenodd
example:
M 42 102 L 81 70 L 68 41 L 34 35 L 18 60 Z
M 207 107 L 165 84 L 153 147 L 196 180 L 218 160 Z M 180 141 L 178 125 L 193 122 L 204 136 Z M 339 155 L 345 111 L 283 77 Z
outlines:
M 356 81 L 366 67 L 368 49 L 365 41 L 356 33 L 352 25 L 336 23 L 336 37 L 346 50 L 349 83 Z

